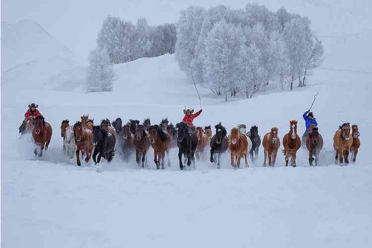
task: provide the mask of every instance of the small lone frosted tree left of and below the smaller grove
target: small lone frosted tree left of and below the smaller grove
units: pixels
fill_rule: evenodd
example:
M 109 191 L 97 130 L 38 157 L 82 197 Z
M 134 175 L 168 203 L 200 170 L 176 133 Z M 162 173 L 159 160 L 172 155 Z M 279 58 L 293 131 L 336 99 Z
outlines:
M 106 50 L 93 50 L 89 54 L 89 67 L 85 78 L 87 92 L 112 91 L 115 72 Z

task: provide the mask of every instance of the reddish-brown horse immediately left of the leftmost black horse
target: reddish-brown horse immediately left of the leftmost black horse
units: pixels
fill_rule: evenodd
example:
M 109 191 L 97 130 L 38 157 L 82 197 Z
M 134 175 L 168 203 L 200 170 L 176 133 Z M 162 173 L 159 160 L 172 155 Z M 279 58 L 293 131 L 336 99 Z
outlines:
M 93 128 L 93 127 L 92 127 Z M 81 166 L 79 153 L 84 151 L 86 157 L 85 162 L 88 163 L 92 156 L 93 150 L 93 131 L 88 127 L 83 127 L 81 122 L 77 122 L 73 125 L 73 132 L 75 133 L 75 144 L 76 144 L 76 163 L 77 166 Z

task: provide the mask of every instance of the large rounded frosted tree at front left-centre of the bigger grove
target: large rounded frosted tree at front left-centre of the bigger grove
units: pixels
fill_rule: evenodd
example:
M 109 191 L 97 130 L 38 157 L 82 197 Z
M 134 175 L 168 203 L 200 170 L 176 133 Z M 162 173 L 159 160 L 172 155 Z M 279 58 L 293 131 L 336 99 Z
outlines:
M 211 89 L 221 91 L 225 101 L 228 100 L 231 88 L 238 86 L 239 71 L 236 66 L 239 49 L 244 42 L 242 28 L 228 24 L 225 20 L 213 26 L 205 42 L 206 84 Z

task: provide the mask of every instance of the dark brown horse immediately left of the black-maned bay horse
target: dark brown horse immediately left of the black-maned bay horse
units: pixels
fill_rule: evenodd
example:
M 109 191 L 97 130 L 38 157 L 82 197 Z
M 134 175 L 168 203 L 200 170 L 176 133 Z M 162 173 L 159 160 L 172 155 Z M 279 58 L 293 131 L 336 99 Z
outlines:
M 135 147 L 135 161 L 139 166 L 140 156 L 142 155 L 142 168 L 145 167 L 146 153 L 150 148 L 150 137 L 149 133 L 145 130 L 143 124 L 137 125 L 137 130 L 134 135 L 134 147 Z M 147 165 L 146 165 L 147 167 Z

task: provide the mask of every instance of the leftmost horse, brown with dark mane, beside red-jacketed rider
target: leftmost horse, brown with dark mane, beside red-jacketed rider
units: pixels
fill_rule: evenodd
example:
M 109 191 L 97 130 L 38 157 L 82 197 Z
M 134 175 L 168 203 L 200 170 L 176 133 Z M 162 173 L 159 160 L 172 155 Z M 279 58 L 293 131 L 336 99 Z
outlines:
M 48 150 L 49 143 L 52 138 L 52 126 L 45 122 L 43 116 L 35 118 L 35 127 L 32 129 L 32 137 L 37 146 L 40 146 L 39 157 L 43 156 L 43 150 Z M 34 149 L 35 156 L 37 156 L 37 147 Z

